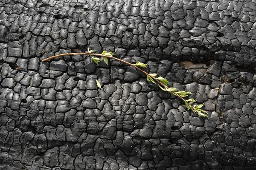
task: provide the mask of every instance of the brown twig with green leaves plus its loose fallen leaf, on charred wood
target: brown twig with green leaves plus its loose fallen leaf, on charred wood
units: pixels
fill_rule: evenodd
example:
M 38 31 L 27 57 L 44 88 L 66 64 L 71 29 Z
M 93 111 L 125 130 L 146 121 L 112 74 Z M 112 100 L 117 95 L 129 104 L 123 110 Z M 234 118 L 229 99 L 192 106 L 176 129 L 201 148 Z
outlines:
M 141 68 L 147 68 L 147 64 L 144 64 L 142 62 L 136 62 L 135 64 L 132 64 L 130 62 L 124 61 L 122 59 L 113 57 L 113 53 L 108 52 L 108 51 L 103 51 L 102 54 L 95 54 L 95 51 L 93 50 L 89 50 L 85 52 L 85 53 L 66 53 L 66 54 L 59 54 L 59 55 L 55 55 L 52 57 L 49 57 L 47 59 L 43 59 L 42 62 L 45 62 L 49 59 L 53 59 L 56 57 L 62 57 L 62 56 L 67 56 L 67 55 L 89 55 L 92 57 L 93 62 L 95 62 L 97 65 L 99 65 L 99 62 L 101 62 L 101 59 L 98 57 L 102 57 L 103 61 L 105 62 L 106 65 L 108 65 L 108 59 L 115 59 L 117 61 L 123 62 L 125 64 L 131 65 L 132 67 L 136 68 L 137 70 L 140 70 L 141 72 L 143 72 L 146 76 L 147 76 L 147 81 L 148 82 L 152 82 L 154 84 L 158 84 L 159 88 L 163 91 L 167 91 L 170 94 L 173 94 L 177 97 L 179 97 L 180 99 L 182 99 L 185 102 L 186 108 L 188 110 L 192 110 L 192 112 L 194 113 L 198 113 L 198 116 L 200 117 L 207 117 L 209 119 L 209 117 L 207 116 L 207 112 L 202 110 L 201 108 L 203 107 L 204 104 L 200 104 L 200 105 L 194 105 L 192 106 L 191 103 L 195 103 L 196 100 L 195 99 L 184 99 L 184 97 L 187 97 L 189 94 L 191 94 L 191 92 L 186 92 L 186 91 L 178 91 L 177 88 L 173 88 L 173 87 L 169 87 L 169 82 L 168 80 L 166 80 L 165 78 L 158 76 L 158 74 L 156 73 L 147 73 L 145 71 L 143 71 Z M 96 80 L 96 85 L 99 88 L 102 88 L 100 83 L 98 82 L 98 80 Z

